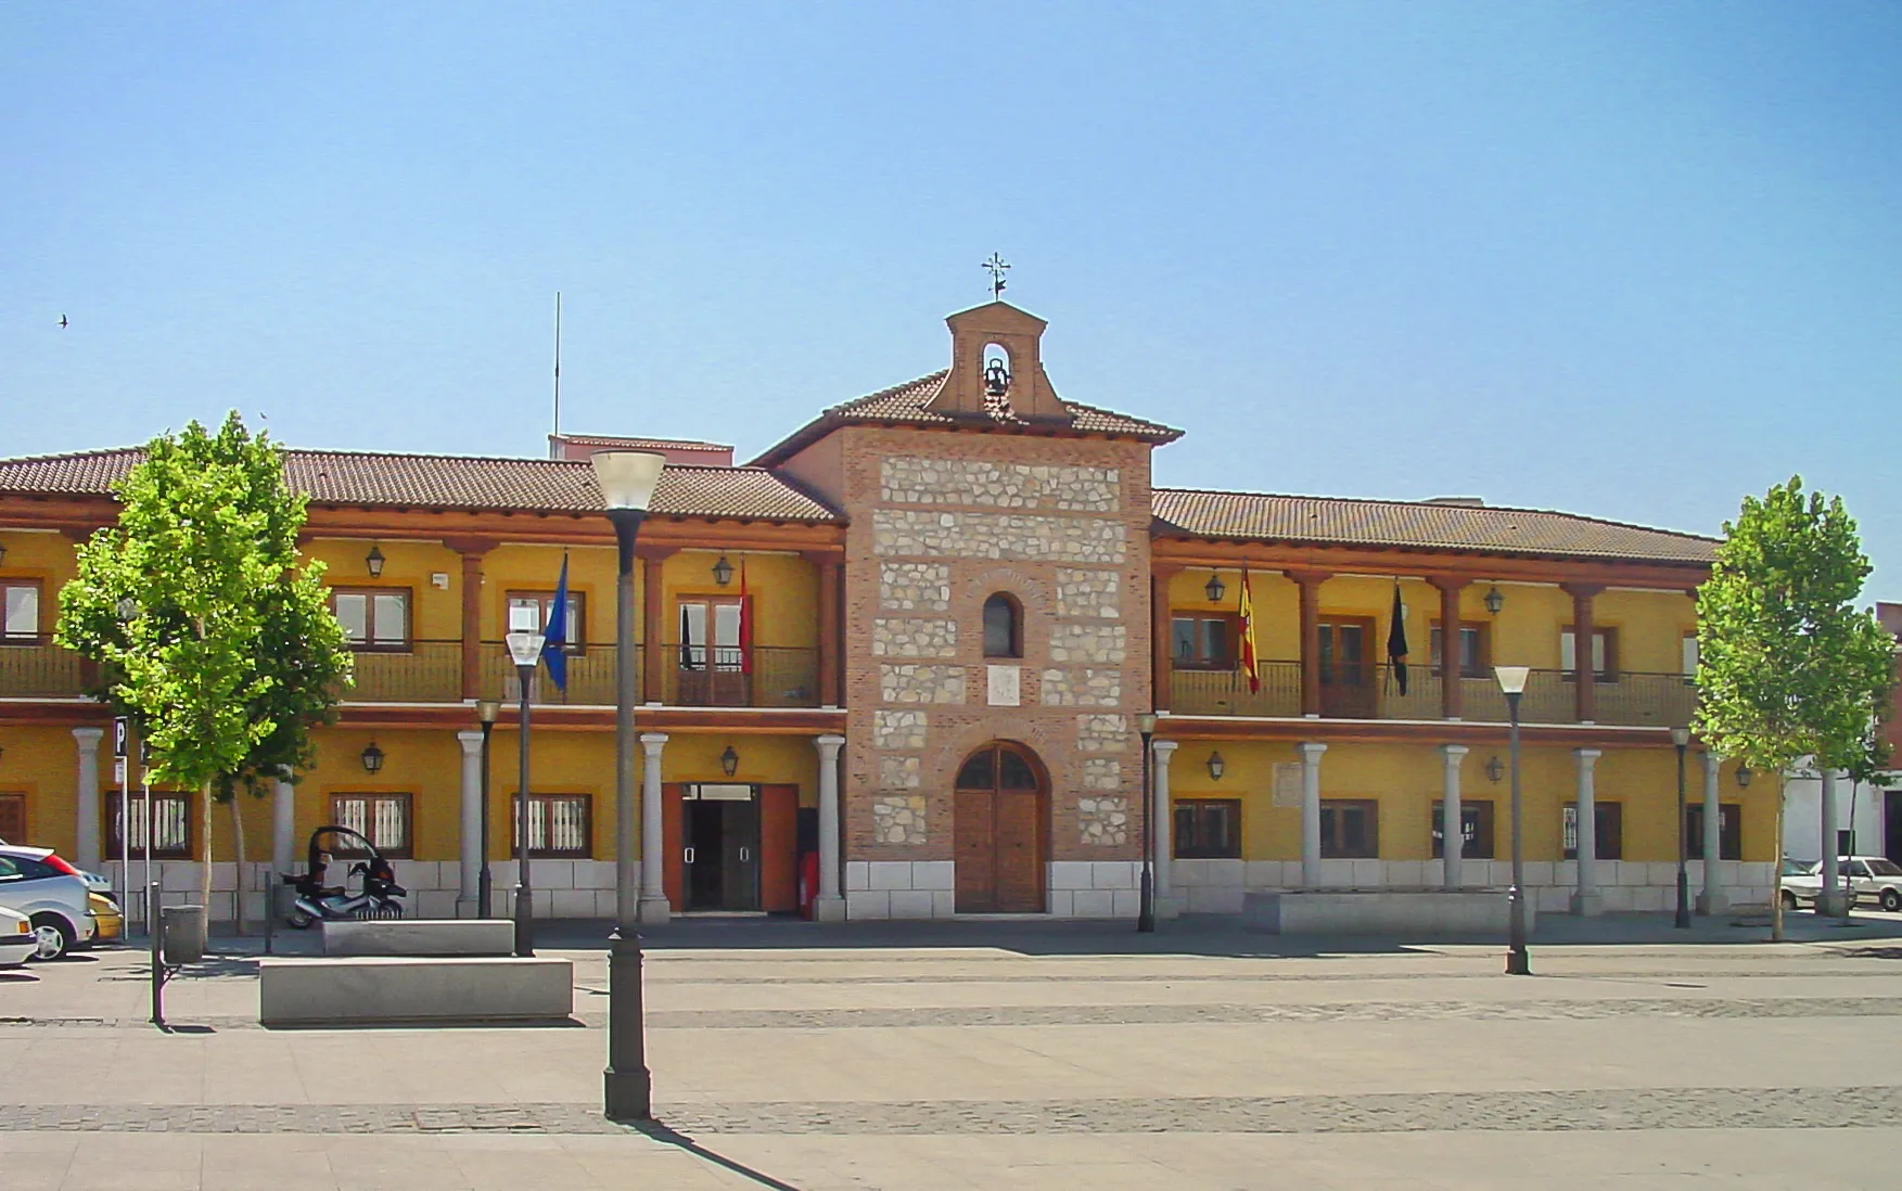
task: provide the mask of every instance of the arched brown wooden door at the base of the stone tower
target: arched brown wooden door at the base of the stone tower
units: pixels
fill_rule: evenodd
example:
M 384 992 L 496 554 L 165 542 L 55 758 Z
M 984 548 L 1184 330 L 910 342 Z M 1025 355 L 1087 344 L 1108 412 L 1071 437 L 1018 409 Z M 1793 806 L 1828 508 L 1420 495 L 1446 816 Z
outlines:
M 953 824 L 957 911 L 1042 911 L 1048 822 L 1050 782 L 1037 753 L 993 740 L 966 757 Z

